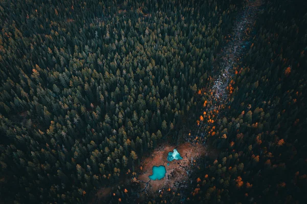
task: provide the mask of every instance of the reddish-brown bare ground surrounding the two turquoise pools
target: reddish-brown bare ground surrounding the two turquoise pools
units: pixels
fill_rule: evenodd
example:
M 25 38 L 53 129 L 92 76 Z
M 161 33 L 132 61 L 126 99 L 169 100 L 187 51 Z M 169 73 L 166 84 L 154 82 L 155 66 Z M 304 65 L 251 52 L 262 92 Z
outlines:
M 178 150 L 183 157 L 182 160 L 167 161 L 168 152 L 173 151 L 173 149 Z M 188 173 L 194 164 L 194 160 L 205 155 L 205 153 L 205 146 L 199 144 L 184 143 L 178 147 L 161 146 L 151 156 L 144 158 L 141 163 L 142 170 L 137 179 L 143 184 L 141 185 L 143 192 L 152 194 L 168 188 L 176 190 L 179 185 L 180 187 L 186 185 L 189 178 Z M 191 158 L 193 158 L 192 161 Z M 167 163 L 169 163 L 169 166 L 167 166 Z M 161 180 L 150 180 L 148 176 L 152 174 L 152 167 L 160 165 L 164 165 L 166 168 L 165 177 Z

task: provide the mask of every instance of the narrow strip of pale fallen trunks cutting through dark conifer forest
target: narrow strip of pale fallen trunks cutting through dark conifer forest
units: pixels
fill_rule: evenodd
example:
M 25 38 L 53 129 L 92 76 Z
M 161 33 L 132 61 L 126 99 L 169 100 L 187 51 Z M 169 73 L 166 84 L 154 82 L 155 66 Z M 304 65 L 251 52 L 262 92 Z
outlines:
M 239 59 L 244 55 L 246 47 L 250 46 L 247 39 L 250 38 L 249 34 L 261 5 L 261 0 L 250 0 L 244 10 L 238 14 L 232 35 L 228 36 L 230 38 L 228 43 L 214 61 L 213 77 L 203 89 L 204 93 L 202 92 L 202 94 L 206 95 L 207 100 L 203 105 L 200 120 L 197 121 L 198 125 L 188 138 L 189 142 L 205 144 L 205 135 L 210 134 L 210 132 L 206 132 L 207 127 L 212 125 L 219 112 L 227 106 L 233 90 L 232 79 L 238 72 Z M 193 158 L 191 158 L 192 161 Z

